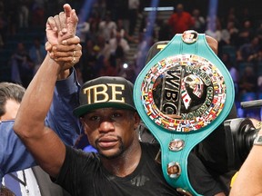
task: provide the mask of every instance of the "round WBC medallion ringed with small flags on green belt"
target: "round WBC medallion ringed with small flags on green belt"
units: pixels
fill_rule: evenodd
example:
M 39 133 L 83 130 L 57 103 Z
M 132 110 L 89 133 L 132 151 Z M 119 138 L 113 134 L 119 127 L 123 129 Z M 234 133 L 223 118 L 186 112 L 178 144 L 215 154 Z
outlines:
M 226 84 L 215 64 L 196 54 L 166 57 L 146 73 L 142 104 L 148 117 L 169 131 L 200 130 L 226 101 Z

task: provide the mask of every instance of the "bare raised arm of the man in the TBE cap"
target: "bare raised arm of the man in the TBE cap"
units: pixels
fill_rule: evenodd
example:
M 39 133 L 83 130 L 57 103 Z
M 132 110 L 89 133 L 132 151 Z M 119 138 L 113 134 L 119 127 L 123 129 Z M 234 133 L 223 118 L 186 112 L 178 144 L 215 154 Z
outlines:
M 72 25 L 71 21 L 77 22 L 75 10 L 65 7 L 67 27 Z M 69 11 L 68 11 L 69 10 Z M 68 13 L 69 12 L 69 13 Z M 61 16 L 62 15 L 62 16 Z M 60 24 L 63 24 L 63 14 L 59 14 Z M 68 18 L 69 17 L 69 18 Z M 65 31 L 64 27 L 58 27 L 58 31 L 50 27 L 50 18 L 46 24 L 46 35 L 48 41 L 55 36 L 62 43 L 61 37 L 70 37 L 71 31 Z M 69 23 L 69 24 L 68 24 Z M 59 29 L 60 28 L 60 29 Z M 51 35 L 50 35 L 50 34 Z M 57 34 L 58 33 L 58 34 Z M 49 36 L 50 35 L 50 36 Z M 51 41 L 51 44 L 54 40 Z M 70 43 L 67 43 L 70 44 Z M 52 53 L 58 52 L 58 47 L 52 49 Z M 26 89 L 24 99 L 15 119 L 14 130 L 25 143 L 27 149 L 32 152 L 36 162 L 47 171 L 50 175 L 56 176 L 65 159 L 65 144 L 50 128 L 45 126 L 45 115 L 47 114 L 52 103 L 55 83 L 59 73 L 67 69 L 67 64 L 59 64 L 58 59 L 52 59 L 55 54 L 47 54 L 45 60 L 34 79 Z M 76 61 L 74 53 L 69 53 L 64 58 L 70 57 L 70 61 Z M 76 55 L 76 54 L 75 54 Z M 28 106 L 30 105 L 30 106 Z

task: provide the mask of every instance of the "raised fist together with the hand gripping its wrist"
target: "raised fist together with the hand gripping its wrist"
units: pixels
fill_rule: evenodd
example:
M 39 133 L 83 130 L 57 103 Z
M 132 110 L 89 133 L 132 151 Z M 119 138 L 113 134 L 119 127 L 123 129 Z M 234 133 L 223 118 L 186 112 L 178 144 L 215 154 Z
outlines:
M 76 10 L 68 4 L 64 5 L 64 12 L 49 17 L 46 22 L 45 50 L 62 66 L 62 71 L 67 70 L 67 73 L 69 68 L 79 62 L 82 55 L 80 39 L 76 37 L 77 22 Z

